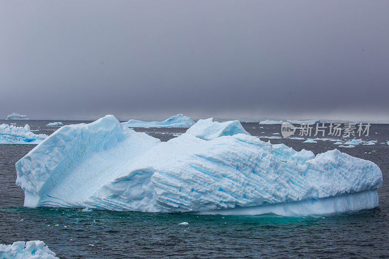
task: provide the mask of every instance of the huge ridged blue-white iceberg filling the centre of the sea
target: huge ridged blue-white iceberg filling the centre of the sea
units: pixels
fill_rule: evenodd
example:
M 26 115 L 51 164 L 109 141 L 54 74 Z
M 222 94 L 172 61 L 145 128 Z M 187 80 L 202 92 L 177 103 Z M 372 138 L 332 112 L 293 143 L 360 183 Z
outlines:
M 200 120 L 167 142 L 107 115 L 66 125 L 16 163 L 24 206 L 201 214 L 334 214 L 378 206 L 382 173 L 337 149 L 314 155 Z

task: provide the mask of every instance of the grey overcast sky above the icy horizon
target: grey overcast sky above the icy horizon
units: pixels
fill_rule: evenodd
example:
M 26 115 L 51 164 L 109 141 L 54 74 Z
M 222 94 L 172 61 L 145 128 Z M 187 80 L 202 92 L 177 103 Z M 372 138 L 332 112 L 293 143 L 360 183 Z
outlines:
M 389 119 L 389 1 L 0 1 L 0 118 Z

